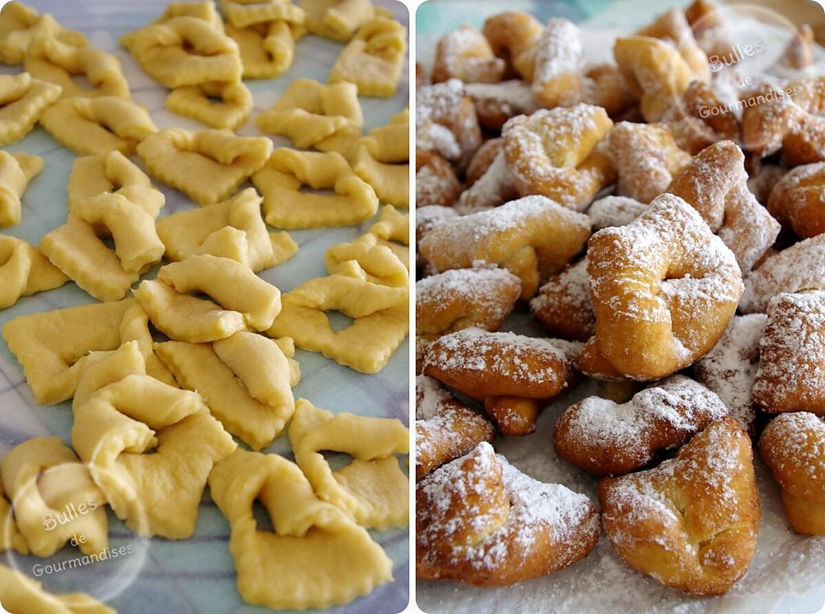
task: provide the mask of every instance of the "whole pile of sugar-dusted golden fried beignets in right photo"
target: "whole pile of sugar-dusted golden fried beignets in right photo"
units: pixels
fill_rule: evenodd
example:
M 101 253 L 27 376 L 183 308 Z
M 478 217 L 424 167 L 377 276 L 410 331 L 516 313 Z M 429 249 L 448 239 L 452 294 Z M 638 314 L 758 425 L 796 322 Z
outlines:
M 808 26 L 757 77 L 731 36 L 695 0 L 592 65 L 572 22 L 508 11 L 417 66 L 419 578 L 550 574 L 601 518 L 633 569 L 724 593 L 755 450 L 825 536 L 825 76 Z M 507 330 L 528 309 L 543 337 Z M 493 449 L 586 378 L 553 443 L 598 505 Z

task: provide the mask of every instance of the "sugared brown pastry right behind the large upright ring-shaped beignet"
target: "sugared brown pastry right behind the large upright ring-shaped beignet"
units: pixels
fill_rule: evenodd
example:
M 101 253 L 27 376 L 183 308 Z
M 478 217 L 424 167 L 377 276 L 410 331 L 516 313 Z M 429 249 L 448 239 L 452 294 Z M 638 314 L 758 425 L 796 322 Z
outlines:
M 695 155 L 667 191 L 699 211 L 747 273 L 773 245 L 780 224 L 748 189 L 744 162 L 737 144 L 719 141 Z

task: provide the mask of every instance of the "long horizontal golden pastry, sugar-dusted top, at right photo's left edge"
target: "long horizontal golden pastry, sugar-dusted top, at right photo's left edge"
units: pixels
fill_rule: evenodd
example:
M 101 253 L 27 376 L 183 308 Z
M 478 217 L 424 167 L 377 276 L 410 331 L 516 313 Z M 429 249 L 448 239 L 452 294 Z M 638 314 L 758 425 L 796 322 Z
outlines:
M 587 215 L 544 196 L 525 196 L 446 221 L 428 232 L 419 248 L 437 271 L 477 262 L 507 268 L 521 279 L 521 298 L 527 300 L 541 281 L 582 251 L 589 235 Z

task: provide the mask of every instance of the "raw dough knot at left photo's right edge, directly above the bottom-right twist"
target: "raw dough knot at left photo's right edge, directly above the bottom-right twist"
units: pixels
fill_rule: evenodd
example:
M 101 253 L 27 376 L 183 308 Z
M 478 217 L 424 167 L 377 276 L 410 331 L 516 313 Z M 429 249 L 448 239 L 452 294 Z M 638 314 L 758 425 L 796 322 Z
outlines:
M 295 462 L 315 494 L 362 527 L 385 530 L 409 522 L 409 480 L 394 454 L 409 453 L 409 431 L 394 418 L 333 414 L 306 399 L 290 423 Z M 352 462 L 333 471 L 321 453 L 344 452 Z

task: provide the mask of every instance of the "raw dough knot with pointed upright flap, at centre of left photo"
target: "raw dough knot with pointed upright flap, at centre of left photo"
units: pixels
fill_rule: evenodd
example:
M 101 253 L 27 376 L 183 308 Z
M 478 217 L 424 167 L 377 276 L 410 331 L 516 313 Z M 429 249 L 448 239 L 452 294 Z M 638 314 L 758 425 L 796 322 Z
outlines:
M 298 245 L 289 234 L 266 229 L 261 202 L 261 196 L 249 187 L 226 201 L 158 220 L 166 257 L 179 261 L 210 253 L 242 262 L 254 272 L 285 262 L 298 252 Z

